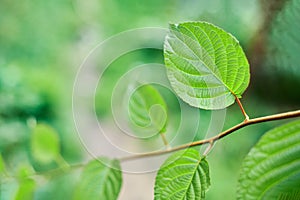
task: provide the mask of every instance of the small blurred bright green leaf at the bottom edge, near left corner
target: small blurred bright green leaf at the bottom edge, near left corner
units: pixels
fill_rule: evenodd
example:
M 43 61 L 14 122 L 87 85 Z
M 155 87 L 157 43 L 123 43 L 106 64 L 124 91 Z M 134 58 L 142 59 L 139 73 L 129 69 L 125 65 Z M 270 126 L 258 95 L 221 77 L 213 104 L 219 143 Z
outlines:
M 15 200 L 32 200 L 34 199 L 36 183 L 33 179 L 24 178 L 19 182 L 19 189 L 15 196 Z

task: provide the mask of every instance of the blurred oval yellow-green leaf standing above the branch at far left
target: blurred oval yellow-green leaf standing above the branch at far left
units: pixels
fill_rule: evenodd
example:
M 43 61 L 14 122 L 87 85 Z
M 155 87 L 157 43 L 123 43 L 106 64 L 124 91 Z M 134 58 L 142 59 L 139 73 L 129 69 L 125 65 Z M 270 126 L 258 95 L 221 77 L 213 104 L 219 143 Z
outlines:
M 60 155 L 56 131 L 45 124 L 37 125 L 31 135 L 31 150 L 34 159 L 42 164 L 55 161 Z

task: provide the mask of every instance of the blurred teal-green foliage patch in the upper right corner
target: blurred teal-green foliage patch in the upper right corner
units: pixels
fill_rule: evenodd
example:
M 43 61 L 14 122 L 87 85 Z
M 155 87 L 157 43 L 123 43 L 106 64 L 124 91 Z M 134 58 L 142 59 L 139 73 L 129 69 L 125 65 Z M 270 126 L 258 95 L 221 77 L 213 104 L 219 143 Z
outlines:
M 300 1 L 287 1 L 271 23 L 268 35 L 267 65 L 269 73 L 300 79 Z M 270 70 L 272 68 L 273 70 Z M 274 76 L 273 74 L 273 76 Z

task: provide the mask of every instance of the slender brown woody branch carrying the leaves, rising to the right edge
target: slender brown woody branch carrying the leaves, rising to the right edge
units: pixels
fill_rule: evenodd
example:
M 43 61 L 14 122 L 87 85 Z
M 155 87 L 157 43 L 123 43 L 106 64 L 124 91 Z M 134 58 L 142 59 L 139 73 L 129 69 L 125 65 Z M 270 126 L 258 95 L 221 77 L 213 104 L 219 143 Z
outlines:
M 244 120 L 243 122 L 219 133 L 216 136 L 208 138 L 208 139 L 183 144 L 183 145 L 173 147 L 173 148 L 167 149 L 167 150 L 154 151 L 154 152 L 149 152 L 149 153 L 142 153 L 142 154 L 136 154 L 136 155 L 131 155 L 131 156 L 127 156 L 127 157 L 122 157 L 122 158 L 119 158 L 119 160 L 121 162 L 125 162 L 125 161 L 135 160 L 135 159 L 139 159 L 139 158 L 163 155 L 163 154 L 167 154 L 167 153 L 171 153 L 174 151 L 186 149 L 189 147 L 199 146 L 199 145 L 203 145 L 203 144 L 214 143 L 217 140 L 219 140 L 219 139 L 221 139 L 243 127 L 249 126 L 251 124 L 258 124 L 258 123 L 262 123 L 262 122 L 282 120 L 282 119 L 288 119 L 288 118 L 294 118 L 294 117 L 300 117 L 300 110 L 290 111 L 290 112 L 285 112 L 285 113 L 280 113 L 280 114 L 275 114 L 275 115 L 269 115 L 269 116 L 264 116 L 264 117 L 258 117 L 258 118 L 253 118 L 253 119 L 249 119 L 249 120 Z

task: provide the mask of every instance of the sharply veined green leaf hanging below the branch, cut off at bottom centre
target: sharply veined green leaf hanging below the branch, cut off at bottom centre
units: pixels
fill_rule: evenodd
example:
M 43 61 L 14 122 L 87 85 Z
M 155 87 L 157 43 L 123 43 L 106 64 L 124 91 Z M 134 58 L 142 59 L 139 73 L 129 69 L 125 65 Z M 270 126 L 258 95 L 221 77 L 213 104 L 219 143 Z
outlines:
M 182 150 L 160 167 L 154 199 L 204 199 L 209 186 L 209 166 L 205 158 L 195 149 Z

